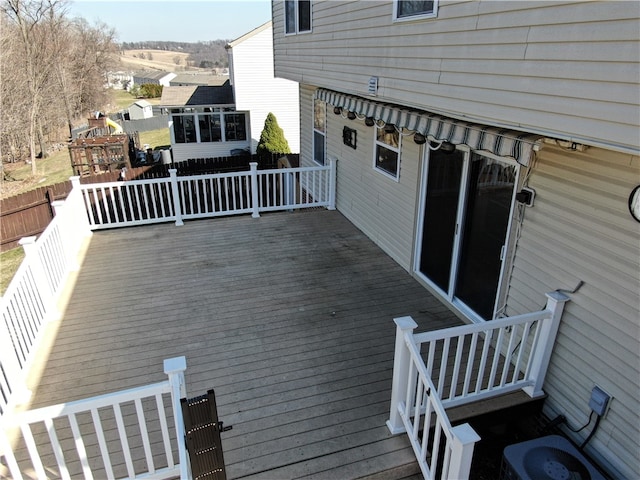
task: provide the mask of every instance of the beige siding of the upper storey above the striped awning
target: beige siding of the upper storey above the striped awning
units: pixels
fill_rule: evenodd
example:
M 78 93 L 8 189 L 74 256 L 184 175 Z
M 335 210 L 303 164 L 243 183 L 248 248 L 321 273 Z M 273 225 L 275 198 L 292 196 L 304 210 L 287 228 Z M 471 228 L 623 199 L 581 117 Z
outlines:
M 637 2 L 441 1 L 395 23 L 390 0 L 312 8 L 313 32 L 284 37 L 273 3 L 276 75 L 357 95 L 377 76 L 381 101 L 638 149 Z

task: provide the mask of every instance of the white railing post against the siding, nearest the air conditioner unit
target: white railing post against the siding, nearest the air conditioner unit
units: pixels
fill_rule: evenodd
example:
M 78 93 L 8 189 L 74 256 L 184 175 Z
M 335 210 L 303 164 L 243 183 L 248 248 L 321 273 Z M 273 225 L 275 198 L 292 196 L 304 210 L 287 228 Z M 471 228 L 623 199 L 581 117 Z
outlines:
M 531 361 L 531 374 L 533 385 L 523 388 L 524 392 L 530 397 L 539 397 L 544 395 L 542 385 L 547 374 L 551 353 L 556 341 L 558 328 L 560 327 L 560 317 L 564 310 L 564 304 L 569 297 L 561 292 L 549 292 L 547 295 L 546 310 L 551 312 L 549 318 L 542 320 L 540 325 L 540 334 L 538 342 L 535 345 L 535 351 L 532 352 L 533 359 Z

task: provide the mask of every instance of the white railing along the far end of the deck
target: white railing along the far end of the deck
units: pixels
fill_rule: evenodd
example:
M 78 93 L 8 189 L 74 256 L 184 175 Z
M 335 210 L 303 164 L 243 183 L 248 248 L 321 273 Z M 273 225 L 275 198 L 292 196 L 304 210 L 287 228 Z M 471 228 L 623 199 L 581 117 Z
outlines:
M 81 185 L 92 230 L 326 207 L 335 209 L 336 164 Z

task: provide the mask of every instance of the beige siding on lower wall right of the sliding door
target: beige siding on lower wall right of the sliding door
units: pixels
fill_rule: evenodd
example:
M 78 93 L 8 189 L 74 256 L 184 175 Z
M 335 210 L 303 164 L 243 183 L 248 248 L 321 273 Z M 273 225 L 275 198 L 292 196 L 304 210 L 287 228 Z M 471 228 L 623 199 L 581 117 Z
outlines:
M 573 289 L 544 389 L 550 416 L 586 423 L 591 389 L 613 396 L 586 450 L 615 478 L 640 466 L 640 223 L 628 197 L 640 159 L 598 148 L 545 145 L 533 166 L 535 205 L 526 210 L 507 313 L 540 308 L 543 293 Z M 580 436 L 582 442 L 589 433 Z

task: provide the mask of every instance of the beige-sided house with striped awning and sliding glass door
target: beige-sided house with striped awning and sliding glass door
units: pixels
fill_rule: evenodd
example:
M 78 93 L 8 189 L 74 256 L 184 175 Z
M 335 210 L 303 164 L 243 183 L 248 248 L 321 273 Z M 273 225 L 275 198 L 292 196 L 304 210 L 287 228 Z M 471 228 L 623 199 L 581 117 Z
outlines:
M 337 159 L 338 210 L 470 322 L 571 292 L 544 412 L 575 429 L 594 386 L 608 392 L 585 452 L 637 477 L 639 4 L 272 9 L 275 75 L 300 83 L 301 165 Z M 581 443 L 594 423 L 565 432 Z

